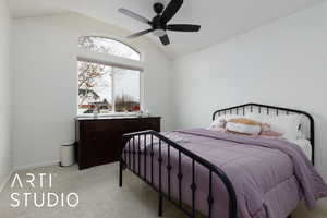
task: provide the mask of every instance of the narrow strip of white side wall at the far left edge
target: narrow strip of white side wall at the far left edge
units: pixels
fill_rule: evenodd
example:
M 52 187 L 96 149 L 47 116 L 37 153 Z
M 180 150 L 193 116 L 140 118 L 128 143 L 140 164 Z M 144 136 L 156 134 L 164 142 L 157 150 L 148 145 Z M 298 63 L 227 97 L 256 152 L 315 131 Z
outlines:
M 11 17 L 7 0 L 0 0 L 0 191 L 11 171 L 12 75 Z

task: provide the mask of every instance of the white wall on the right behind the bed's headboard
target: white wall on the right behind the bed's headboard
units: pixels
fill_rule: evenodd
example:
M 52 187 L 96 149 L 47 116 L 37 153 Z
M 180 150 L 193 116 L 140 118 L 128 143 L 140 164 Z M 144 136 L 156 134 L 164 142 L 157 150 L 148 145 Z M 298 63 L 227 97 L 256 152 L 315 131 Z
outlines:
M 323 3 L 178 60 L 175 128 L 208 126 L 216 109 L 251 101 L 306 110 L 327 179 L 326 24 Z

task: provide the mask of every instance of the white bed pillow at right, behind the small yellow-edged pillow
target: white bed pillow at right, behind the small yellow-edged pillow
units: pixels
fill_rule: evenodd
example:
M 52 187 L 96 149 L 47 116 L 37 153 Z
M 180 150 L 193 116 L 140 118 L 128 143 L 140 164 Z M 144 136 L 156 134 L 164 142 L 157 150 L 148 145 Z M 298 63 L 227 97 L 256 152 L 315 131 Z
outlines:
M 295 140 L 299 137 L 299 128 L 302 120 L 301 114 L 271 116 L 263 113 L 247 113 L 246 118 L 269 124 L 271 131 L 281 133 L 282 137 L 287 140 Z

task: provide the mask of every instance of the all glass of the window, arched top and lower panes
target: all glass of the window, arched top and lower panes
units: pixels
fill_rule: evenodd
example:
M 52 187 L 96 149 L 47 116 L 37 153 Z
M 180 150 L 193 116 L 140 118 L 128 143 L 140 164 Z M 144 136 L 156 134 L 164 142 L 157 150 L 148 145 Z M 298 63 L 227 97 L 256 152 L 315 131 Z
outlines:
M 110 57 L 140 61 L 141 55 L 132 47 L 107 37 L 83 36 L 78 47 L 90 51 L 87 57 L 78 57 L 78 111 L 90 114 L 138 112 L 141 109 L 141 71 L 125 61 L 112 62 Z M 108 55 L 109 61 L 96 60 L 94 52 Z M 114 59 L 114 61 L 120 59 Z M 133 69 L 133 70 L 132 70 Z

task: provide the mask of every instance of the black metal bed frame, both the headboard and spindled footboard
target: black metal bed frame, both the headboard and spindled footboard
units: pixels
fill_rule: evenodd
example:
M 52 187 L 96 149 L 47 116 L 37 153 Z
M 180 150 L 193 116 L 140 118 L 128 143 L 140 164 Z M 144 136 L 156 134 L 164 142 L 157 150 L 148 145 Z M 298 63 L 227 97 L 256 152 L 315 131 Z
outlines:
M 232 114 L 233 112 L 235 112 L 237 114 L 245 114 L 246 112 L 246 108 L 250 108 L 250 111 L 253 112 L 255 110 L 255 108 L 257 108 L 257 112 L 262 113 L 263 111 L 266 111 L 267 114 L 269 114 L 272 110 L 276 111 L 276 114 L 278 116 L 280 113 L 280 111 L 284 111 L 287 114 L 289 113 L 300 113 L 305 116 L 308 120 L 310 120 L 310 141 L 311 141 L 311 145 L 312 145 L 312 161 L 314 164 L 314 143 L 315 143 L 315 132 L 314 132 L 314 119 L 313 117 L 304 111 L 300 111 L 300 110 L 294 110 L 294 109 L 289 109 L 289 108 L 281 108 L 281 107 L 275 107 L 275 106 L 266 106 L 266 105 L 259 105 L 259 104 L 246 104 L 246 105 L 241 105 L 241 106 L 235 106 L 235 107 L 231 107 L 231 108 L 226 108 L 226 109 L 221 109 L 221 110 L 217 110 L 215 111 L 215 113 L 213 114 L 213 120 L 216 119 L 217 116 L 221 116 L 221 114 Z M 150 136 L 150 147 L 147 148 L 147 146 L 144 146 L 144 152 L 141 152 L 141 136 L 144 137 L 144 144 L 147 145 L 146 138 L 147 136 Z M 138 138 L 137 144 L 135 144 L 135 138 Z M 156 146 L 159 146 L 159 157 L 157 159 L 154 158 L 154 138 L 158 140 L 158 144 L 156 144 Z M 131 143 L 132 142 L 132 143 Z M 158 192 L 158 196 L 159 196 L 159 201 L 158 201 L 158 216 L 161 217 L 162 216 L 162 199 L 164 197 L 167 198 L 168 201 L 170 201 L 174 206 L 177 206 L 179 209 L 181 209 L 183 213 L 185 213 L 185 215 L 187 215 L 191 218 L 195 217 L 196 214 L 196 208 L 195 208 L 195 193 L 196 193 L 196 189 L 197 185 L 195 183 L 195 165 L 201 165 L 205 168 L 207 168 L 208 170 L 208 174 L 209 174 L 209 181 L 208 181 L 208 186 L 209 186 L 209 193 L 208 193 L 208 197 L 207 197 L 207 204 L 208 204 L 208 217 L 211 218 L 211 207 L 213 204 L 215 202 L 214 196 L 213 196 L 213 177 L 216 174 L 218 175 L 218 178 L 222 181 L 222 183 L 225 184 L 225 187 L 227 190 L 228 196 L 229 196 L 229 216 L 228 218 L 238 218 L 238 202 L 237 202 L 237 194 L 234 191 L 234 187 L 231 183 L 231 181 L 229 180 L 229 178 L 227 177 L 227 174 L 217 166 L 210 164 L 209 161 L 205 160 L 204 158 L 197 156 L 196 154 L 185 149 L 184 147 L 180 146 L 179 144 L 177 144 L 175 142 L 165 137 L 164 135 L 159 134 L 156 131 L 143 131 L 143 132 L 136 132 L 136 133 L 129 133 L 129 134 L 124 134 L 123 135 L 123 148 L 128 147 L 129 149 L 123 149 L 122 150 L 122 155 L 120 158 L 120 164 L 119 164 L 119 186 L 122 186 L 122 182 L 123 182 L 123 170 L 128 167 L 128 165 L 124 162 L 124 159 L 126 161 L 130 162 L 130 170 L 136 174 L 141 180 L 143 180 L 146 184 L 148 184 L 150 187 L 153 187 L 156 192 Z M 161 145 L 162 143 L 167 144 L 167 150 L 168 150 L 168 165 L 167 166 L 162 166 L 162 154 L 161 154 Z M 136 150 L 136 147 L 138 148 L 138 150 Z M 178 154 L 179 154 L 179 173 L 178 173 L 178 181 L 179 181 L 179 197 L 172 198 L 171 197 L 171 192 L 170 192 L 170 187 L 171 187 L 171 170 L 172 170 L 172 166 L 170 164 L 170 149 L 177 149 Z M 149 150 L 147 150 L 149 149 Z M 190 209 L 185 208 L 183 206 L 183 202 L 182 202 L 182 180 L 183 180 L 183 173 L 181 171 L 181 157 L 182 156 L 186 156 L 189 158 L 192 159 L 192 172 L 190 172 L 192 174 L 192 184 L 190 185 L 190 190 L 192 191 L 192 205 L 191 205 L 191 211 Z M 147 157 L 150 158 L 149 165 L 147 166 Z M 144 173 L 141 174 L 141 158 L 144 158 Z M 159 169 L 154 169 L 154 161 L 157 160 L 158 161 L 158 166 Z M 136 169 L 136 161 L 138 161 L 138 169 Z M 132 167 L 133 166 L 133 167 Z M 150 168 L 150 177 L 147 177 L 147 167 Z M 162 170 L 167 170 L 168 173 L 168 192 L 165 193 L 162 192 Z M 154 170 L 158 170 L 159 171 L 159 178 L 158 178 L 158 182 L 159 185 L 158 187 L 155 186 L 154 183 Z M 185 173 L 185 172 L 184 172 Z

